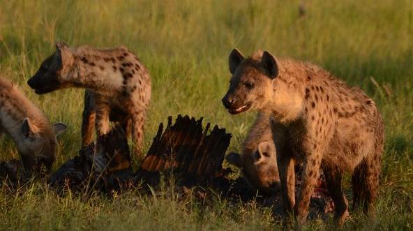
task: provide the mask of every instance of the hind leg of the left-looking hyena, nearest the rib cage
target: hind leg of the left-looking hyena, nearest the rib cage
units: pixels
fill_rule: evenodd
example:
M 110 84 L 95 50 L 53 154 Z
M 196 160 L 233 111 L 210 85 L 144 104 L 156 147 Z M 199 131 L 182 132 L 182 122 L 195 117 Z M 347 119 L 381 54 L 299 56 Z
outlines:
M 142 152 L 142 142 L 144 137 L 144 123 L 146 112 L 144 110 L 133 112 L 132 114 L 132 138 L 133 154 L 140 156 Z

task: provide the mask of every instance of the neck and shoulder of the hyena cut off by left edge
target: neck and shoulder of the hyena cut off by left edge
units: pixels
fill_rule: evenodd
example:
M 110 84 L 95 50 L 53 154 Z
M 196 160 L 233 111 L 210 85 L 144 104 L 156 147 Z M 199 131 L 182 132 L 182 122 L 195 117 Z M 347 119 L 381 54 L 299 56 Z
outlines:
M 17 87 L 0 78 L 0 126 L 14 140 L 20 139 L 20 126 L 29 118 L 43 133 L 52 133 L 49 120 Z

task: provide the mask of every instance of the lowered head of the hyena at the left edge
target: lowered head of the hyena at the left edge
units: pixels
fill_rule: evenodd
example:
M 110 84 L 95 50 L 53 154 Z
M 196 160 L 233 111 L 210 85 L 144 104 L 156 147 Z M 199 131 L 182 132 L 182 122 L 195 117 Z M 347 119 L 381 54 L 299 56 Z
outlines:
M 35 167 L 45 167 L 50 172 L 56 152 L 56 137 L 66 131 L 66 125 L 58 123 L 53 128 L 39 128 L 29 118 L 20 125 L 17 149 L 22 158 L 24 170 L 31 173 Z

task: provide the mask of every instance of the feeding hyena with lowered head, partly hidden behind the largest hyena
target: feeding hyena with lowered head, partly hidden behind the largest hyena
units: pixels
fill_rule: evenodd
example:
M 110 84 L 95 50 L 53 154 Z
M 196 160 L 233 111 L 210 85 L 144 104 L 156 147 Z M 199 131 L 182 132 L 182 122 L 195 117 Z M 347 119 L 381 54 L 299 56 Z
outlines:
M 255 123 L 239 154 L 228 154 L 226 160 L 241 169 L 248 184 L 264 193 L 275 193 L 280 189 L 276 147 L 269 124 L 269 115 L 258 113 Z

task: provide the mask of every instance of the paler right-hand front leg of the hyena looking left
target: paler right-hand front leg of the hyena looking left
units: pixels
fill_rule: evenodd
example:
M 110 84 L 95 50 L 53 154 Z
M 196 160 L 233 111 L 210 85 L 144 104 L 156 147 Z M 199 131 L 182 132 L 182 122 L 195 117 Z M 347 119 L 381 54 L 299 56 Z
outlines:
M 100 135 L 105 135 L 110 130 L 110 121 L 109 121 L 109 113 L 110 113 L 110 105 L 107 102 L 105 96 L 101 96 L 100 94 L 96 94 L 96 135 L 98 137 Z

